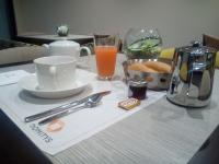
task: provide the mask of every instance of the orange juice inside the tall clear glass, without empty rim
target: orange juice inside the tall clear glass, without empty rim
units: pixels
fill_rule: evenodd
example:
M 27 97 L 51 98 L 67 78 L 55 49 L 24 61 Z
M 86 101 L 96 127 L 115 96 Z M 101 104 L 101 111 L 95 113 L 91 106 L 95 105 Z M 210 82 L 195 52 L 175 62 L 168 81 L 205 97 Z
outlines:
M 116 65 L 116 46 L 95 46 L 97 73 L 101 79 L 111 79 Z

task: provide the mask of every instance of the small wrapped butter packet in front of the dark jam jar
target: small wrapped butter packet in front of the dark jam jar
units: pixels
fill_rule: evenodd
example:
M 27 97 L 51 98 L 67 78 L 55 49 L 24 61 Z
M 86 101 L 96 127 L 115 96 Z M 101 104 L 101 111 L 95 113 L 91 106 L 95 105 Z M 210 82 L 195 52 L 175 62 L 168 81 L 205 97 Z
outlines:
M 139 105 L 140 105 L 140 101 L 137 98 L 128 98 L 128 99 L 125 99 L 125 101 L 118 103 L 118 107 L 126 109 L 126 110 L 132 109 Z

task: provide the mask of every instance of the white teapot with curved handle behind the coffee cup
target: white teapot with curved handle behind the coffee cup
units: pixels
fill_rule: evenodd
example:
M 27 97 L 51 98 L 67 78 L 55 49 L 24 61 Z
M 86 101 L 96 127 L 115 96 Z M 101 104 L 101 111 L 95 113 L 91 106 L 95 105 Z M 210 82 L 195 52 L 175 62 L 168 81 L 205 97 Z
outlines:
M 80 47 L 78 43 L 67 39 L 56 40 L 49 45 L 44 44 L 43 46 L 48 49 L 48 56 L 71 56 L 76 58 L 78 66 L 88 67 L 91 56 L 91 50 L 88 47 Z M 87 51 L 88 58 L 80 57 L 82 49 Z

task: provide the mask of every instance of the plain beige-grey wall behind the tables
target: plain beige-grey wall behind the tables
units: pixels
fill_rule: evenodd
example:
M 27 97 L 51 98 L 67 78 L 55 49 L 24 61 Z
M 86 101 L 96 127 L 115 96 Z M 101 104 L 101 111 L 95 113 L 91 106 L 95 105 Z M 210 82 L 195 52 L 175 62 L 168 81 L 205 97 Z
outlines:
M 219 0 L 14 0 L 19 33 L 74 34 L 159 28 L 164 46 L 187 45 L 203 33 L 219 36 Z

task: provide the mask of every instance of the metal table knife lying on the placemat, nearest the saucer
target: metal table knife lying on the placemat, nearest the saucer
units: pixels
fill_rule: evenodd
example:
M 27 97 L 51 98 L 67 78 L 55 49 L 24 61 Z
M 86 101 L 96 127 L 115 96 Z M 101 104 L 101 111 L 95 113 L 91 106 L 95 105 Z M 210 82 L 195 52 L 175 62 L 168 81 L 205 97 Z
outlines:
M 80 105 L 82 103 L 85 103 L 91 96 L 93 95 L 107 95 L 110 94 L 111 91 L 104 91 L 104 92 L 99 92 L 99 93 L 94 93 L 94 94 L 91 94 L 82 99 L 79 99 L 79 101 L 74 101 L 74 102 L 71 102 L 71 103 L 67 103 L 67 104 L 64 104 L 61 106 L 58 106 L 58 107 L 55 107 L 55 108 L 51 108 L 49 110 L 46 110 L 46 112 L 43 112 L 43 113 L 39 113 L 39 114 L 35 114 L 35 115 L 32 115 L 32 116 L 27 116 L 24 118 L 24 121 L 25 122 L 30 122 L 30 121 L 34 121 L 34 120 L 37 120 L 37 119 L 41 119 L 41 118 L 44 118 L 44 117 L 47 117 L 47 116 L 51 116 L 51 115 L 55 115 L 55 114 L 58 114 L 58 113 L 61 113 L 68 108 L 71 108 L 71 107 L 74 107 L 77 105 Z

